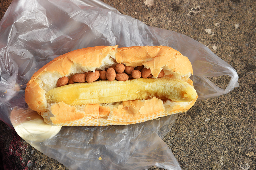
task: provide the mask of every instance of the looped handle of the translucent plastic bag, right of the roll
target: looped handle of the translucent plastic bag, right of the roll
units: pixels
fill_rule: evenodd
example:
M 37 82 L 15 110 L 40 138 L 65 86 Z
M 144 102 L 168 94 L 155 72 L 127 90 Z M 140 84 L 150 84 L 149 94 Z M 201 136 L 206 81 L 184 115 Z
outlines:
M 191 75 L 191 79 L 194 81 L 194 87 L 199 95 L 197 101 L 217 97 L 232 91 L 235 87 L 239 87 L 236 70 L 222 59 L 214 57 L 215 54 L 211 51 L 210 53 L 212 56 L 207 56 L 207 58 L 197 60 L 192 64 L 195 72 Z M 206 64 L 208 68 L 198 67 L 201 64 Z M 208 79 L 208 77 L 224 75 L 228 75 L 231 78 L 225 90 L 217 87 Z

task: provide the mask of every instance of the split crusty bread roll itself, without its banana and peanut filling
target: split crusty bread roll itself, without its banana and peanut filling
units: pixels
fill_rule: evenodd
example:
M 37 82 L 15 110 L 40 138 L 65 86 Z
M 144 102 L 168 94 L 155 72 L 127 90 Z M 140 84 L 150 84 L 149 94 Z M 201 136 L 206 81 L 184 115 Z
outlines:
M 189 79 L 193 73 L 189 59 L 173 48 L 97 46 L 63 54 L 40 68 L 27 83 L 25 100 L 32 110 L 37 111 L 44 121 L 51 125 L 106 126 L 134 124 L 185 112 L 197 99 L 191 102 L 176 102 L 153 97 L 148 100 L 82 106 L 70 106 L 64 102 L 47 103 L 45 94 L 56 87 L 59 78 L 104 70 L 116 63 L 132 67 L 144 65 L 150 68 L 154 78 L 164 70 L 165 78 L 180 79 L 193 86 L 193 81 Z

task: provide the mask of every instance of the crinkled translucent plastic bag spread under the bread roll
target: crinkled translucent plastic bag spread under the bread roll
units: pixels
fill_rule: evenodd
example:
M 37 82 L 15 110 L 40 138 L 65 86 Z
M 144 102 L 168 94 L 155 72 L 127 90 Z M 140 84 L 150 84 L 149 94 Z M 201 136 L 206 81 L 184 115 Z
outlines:
M 177 115 L 126 126 L 52 127 L 24 100 L 26 83 L 53 58 L 91 46 L 170 46 L 193 65 L 198 100 L 239 87 L 238 74 L 203 44 L 145 25 L 98 0 L 13 0 L 0 22 L 0 119 L 34 148 L 75 169 L 181 169 L 162 141 Z M 207 77 L 230 76 L 226 89 Z

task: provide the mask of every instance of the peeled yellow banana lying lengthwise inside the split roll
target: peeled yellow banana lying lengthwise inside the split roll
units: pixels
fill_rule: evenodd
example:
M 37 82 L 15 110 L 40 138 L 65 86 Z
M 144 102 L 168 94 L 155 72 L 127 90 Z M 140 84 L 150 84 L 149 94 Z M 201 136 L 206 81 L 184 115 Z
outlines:
M 75 83 L 51 89 L 46 93 L 48 102 L 64 102 L 71 106 L 112 103 L 152 97 L 190 102 L 197 96 L 187 82 L 167 78 L 139 78 L 127 81 L 94 81 Z

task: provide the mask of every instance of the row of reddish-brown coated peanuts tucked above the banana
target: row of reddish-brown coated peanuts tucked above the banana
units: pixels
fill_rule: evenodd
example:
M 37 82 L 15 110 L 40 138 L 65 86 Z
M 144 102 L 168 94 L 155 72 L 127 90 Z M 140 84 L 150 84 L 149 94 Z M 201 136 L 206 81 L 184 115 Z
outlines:
M 108 80 L 113 81 L 114 79 L 118 81 L 126 81 L 129 79 L 138 78 L 152 78 L 150 69 L 144 66 L 137 66 L 135 68 L 130 66 L 125 66 L 124 64 L 116 64 L 116 66 L 110 67 L 105 70 L 95 70 L 95 72 L 86 72 L 81 74 L 75 74 L 73 77 L 68 78 L 66 76 L 61 77 L 57 81 L 57 87 L 61 87 L 67 84 L 74 83 L 91 83 L 97 80 Z M 158 78 L 164 77 L 164 71 L 162 70 Z

